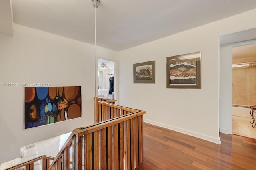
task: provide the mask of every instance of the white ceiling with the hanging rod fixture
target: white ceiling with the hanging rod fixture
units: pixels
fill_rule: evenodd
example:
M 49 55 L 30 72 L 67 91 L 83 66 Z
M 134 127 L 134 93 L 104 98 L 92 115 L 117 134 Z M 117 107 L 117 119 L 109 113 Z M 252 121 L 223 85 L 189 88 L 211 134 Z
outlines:
M 101 0 L 96 8 L 96 45 L 121 51 L 252 10 L 255 4 L 255 0 Z M 12 11 L 16 24 L 95 44 L 91 0 L 12 0 Z

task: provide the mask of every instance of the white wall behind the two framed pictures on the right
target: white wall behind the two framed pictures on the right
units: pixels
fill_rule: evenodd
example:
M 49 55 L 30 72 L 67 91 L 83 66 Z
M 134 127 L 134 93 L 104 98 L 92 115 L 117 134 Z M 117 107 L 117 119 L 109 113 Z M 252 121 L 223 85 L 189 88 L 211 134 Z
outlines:
M 146 122 L 220 143 L 218 36 L 250 28 L 255 9 L 119 52 L 120 105 L 146 110 Z M 167 89 L 166 57 L 197 51 L 202 88 Z M 134 84 L 133 64 L 152 60 L 156 83 Z

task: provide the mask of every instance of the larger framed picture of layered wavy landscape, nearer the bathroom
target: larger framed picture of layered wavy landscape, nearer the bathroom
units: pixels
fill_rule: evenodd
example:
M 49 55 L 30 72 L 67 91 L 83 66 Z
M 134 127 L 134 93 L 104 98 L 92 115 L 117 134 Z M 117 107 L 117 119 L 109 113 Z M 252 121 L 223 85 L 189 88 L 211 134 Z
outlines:
M 201 52 L 167 57 L 166 87 L 201 89 Z

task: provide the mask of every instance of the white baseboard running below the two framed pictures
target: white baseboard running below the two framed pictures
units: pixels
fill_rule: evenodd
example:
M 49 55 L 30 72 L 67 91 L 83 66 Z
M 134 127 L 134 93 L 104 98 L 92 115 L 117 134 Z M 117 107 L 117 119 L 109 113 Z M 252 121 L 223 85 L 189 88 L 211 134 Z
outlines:
M 194 136 L 196 138 L 200 138 L 200 139 L 203 139 L 203 140 L 207 140 L 209 142 L 213 142 L 213 143 L 216 143 L 216 144 L 220 144 L 221 141 L 220 141 L 220 137 L 218 138 L 213 138 L 212 136 L 208 136 L 208 135 L 205 135 L 205 134 L 200 134 L 200 133 L 197 133 L 197 132 L 192 132 L 190 130 L 186 130 L 186 129 L 182 129 L 182 128 L 178 128 L 178 127 L 173 127 L 171 125 L 166 125 L 164 123 L 160 123 L 160 122 L 156 122 L 156 121 L 151 121 L 149 119 L 145 119 L 144 118 L 144 122 L 146 123 L 151 123 L 153 125 L 157 125 L 157 126 L 160 126 L 160 127 L 164 127 L 164 128 L 168 128 L 170 130 L 174 130 L 176 132 L 180 132 L 180 133 L 184 133 L 184 134 L 188 134 L 190 136 Z

